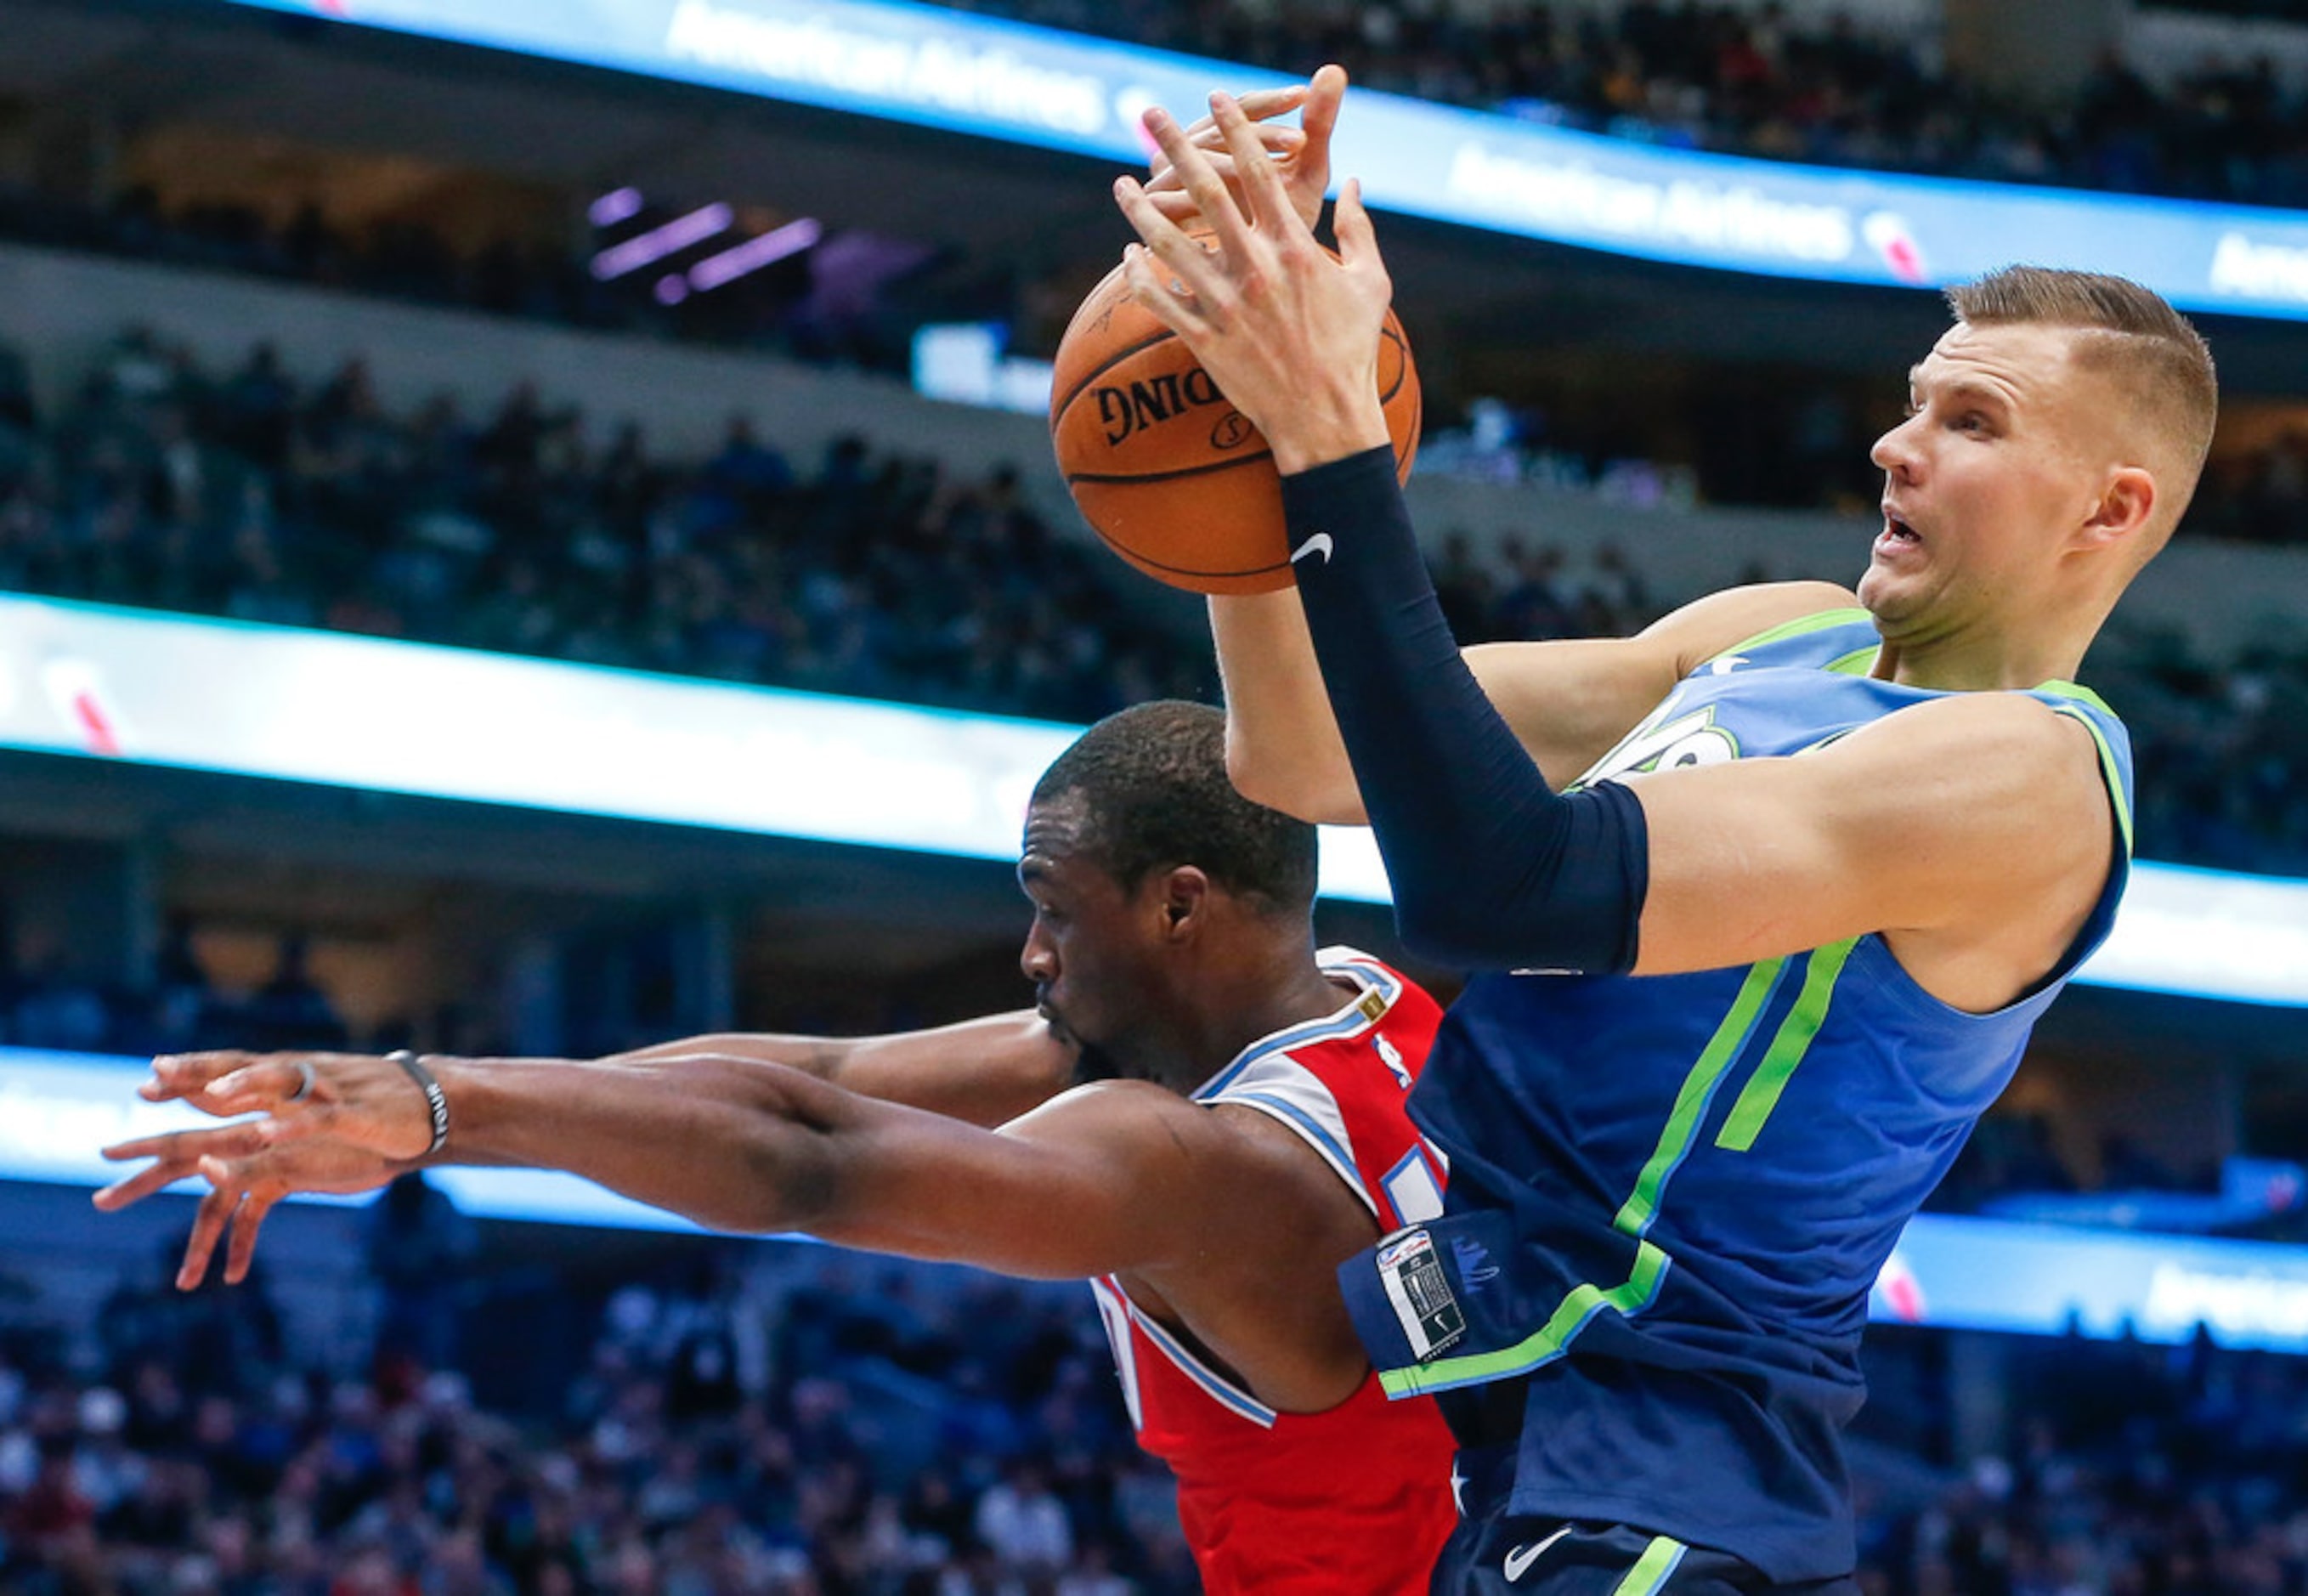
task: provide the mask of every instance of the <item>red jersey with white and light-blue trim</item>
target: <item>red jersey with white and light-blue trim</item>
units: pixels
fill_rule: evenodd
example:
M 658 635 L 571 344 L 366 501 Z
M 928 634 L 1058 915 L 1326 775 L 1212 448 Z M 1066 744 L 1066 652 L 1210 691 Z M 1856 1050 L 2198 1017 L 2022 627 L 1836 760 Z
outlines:
M 1442 1213 L 1442 1164 L 1403 1099 L 1442 1009 L 1387 965 L 1322 949 L 1362 991 L 1336 1014 L 1262 1037 L 1193 1099 L 1274 1116 L 1371 1210 L 1376 1233 Z M 1177 1508 L 1209 1596 L 1412 1596 L 1456 1522 L 1452 1437 L 1426 1397 L 1378 1377 L 1325 1414 L 1279 1414 L 1094 1280 L 1138 1441 L 1177 1474 Z

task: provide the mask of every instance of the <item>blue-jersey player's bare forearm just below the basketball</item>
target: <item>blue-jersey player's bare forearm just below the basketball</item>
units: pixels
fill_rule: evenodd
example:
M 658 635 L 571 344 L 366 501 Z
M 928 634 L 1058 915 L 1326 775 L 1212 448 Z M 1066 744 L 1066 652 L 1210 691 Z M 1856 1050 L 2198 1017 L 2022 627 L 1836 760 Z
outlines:
M 1322 825 L 1362 825 L 1362 792 L 1322 693 L 1295 591 L 1214 596 L 1226 774 L 1242 797 Z

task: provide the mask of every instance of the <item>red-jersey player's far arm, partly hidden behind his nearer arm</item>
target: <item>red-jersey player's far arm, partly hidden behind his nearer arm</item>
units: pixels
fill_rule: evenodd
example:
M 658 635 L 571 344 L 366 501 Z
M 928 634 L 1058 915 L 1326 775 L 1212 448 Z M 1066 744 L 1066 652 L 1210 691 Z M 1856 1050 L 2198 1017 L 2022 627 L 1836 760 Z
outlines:
M 713 1032 L 614 1053 L 602 1062 L 669 1060 L 697 1053 L 785 1065 L 831 1086 L 944 1113 L 969 1125 L 1002 1125 L 1073 1086 L 1078 1051 L 1032 1009 L 882 1037 Z

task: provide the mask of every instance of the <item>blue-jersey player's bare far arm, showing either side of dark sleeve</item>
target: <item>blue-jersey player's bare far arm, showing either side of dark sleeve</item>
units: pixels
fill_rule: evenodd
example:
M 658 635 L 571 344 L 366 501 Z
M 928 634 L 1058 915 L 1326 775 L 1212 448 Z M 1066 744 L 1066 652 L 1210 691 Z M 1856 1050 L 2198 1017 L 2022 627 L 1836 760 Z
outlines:
M 1782 621 L 1851 605 L 1833 582 L 1710 594 L 1634 637 L 1463 649 L 1484 695 L 1556 785 L 1586 774 L 1685 674 Z M 1244 797 L 1322 825 L 1369 825 L 1295 589 L 1209 601 L 1226 688 L 1226 774 Z

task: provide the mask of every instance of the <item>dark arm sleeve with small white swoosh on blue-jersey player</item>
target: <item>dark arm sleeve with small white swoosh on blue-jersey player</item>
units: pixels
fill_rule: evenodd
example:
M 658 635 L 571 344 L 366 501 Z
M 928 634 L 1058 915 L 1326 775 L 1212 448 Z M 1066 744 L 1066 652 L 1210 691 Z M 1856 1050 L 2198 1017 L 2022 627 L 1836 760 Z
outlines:
M 1286 476 L 1283 513 L 1403 945 L 1470 970 L 1632 970 L 1643 806 L 1616 783 L 1558 795 L 1516 741 L 1442 619 L 1394 453 Z

